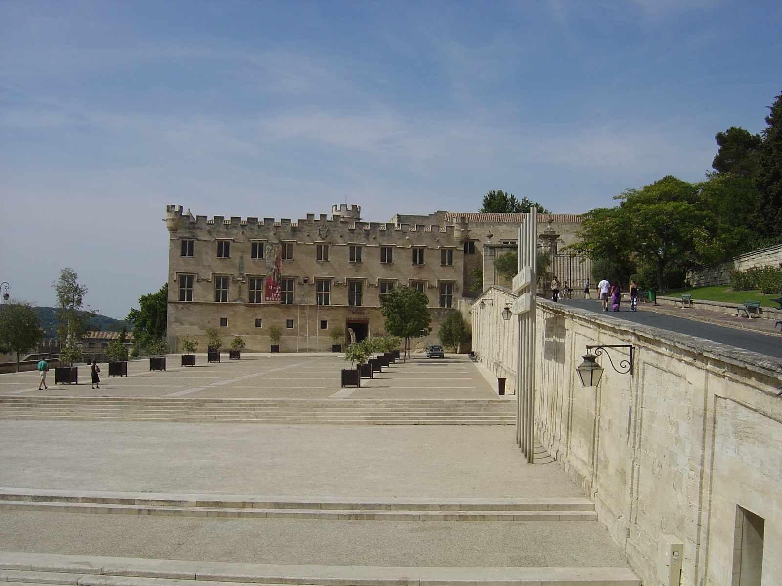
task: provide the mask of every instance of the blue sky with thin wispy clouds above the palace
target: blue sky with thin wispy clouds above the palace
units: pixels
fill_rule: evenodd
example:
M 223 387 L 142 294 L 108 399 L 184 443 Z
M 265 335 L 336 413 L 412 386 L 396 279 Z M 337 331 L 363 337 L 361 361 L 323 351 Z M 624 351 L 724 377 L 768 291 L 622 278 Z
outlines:
M 124 317 L 167 278 L 165 205 L 364 219 L 558 213 L 673 174 L 782 91 L 782 2 L 0 0 L 0 280 L 71 266 Z

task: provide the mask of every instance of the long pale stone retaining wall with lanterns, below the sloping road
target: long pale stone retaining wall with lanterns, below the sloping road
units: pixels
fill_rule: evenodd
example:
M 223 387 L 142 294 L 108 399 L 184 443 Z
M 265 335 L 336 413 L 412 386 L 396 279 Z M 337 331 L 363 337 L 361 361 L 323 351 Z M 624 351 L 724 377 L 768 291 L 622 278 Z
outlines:
M 488 293 L 496 313 L 500 293 Z M 476 316 L 476 349 L 503 376 L 513 364 L 513 322 Z M 536 331 L 537 439 L 594 499 L 599 520 L 644 584 L 662 584 L 661 534 L 683 540 L 681 584 L 737 583 L 742 509 L 765 520 L 762 584 L 776 584 L 782 576 L 777 363 L 540 298 Z M 576 366 L 586 346 L 596 344 L 633 345 L 632 376 L 615 372 L 603 355 L 600 386 L 582 388 Z M 626 348 L 608 352 L 615 364 L 628 356 Z

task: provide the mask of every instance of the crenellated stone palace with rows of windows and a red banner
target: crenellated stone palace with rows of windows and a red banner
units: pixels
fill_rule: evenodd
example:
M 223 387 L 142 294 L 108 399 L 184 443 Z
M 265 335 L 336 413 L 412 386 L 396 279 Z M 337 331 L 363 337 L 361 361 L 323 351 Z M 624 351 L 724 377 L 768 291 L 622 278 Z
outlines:
M 382 334 L 380 298 L 407 286 L 429 298 L 432 334 L 419 341 L 437 343 L 447 313 L 480 293 L 470 291 L 470 273 L 486 266 L 494 242 L 515 249 L 520 220 L 437 212 L 365 222 L 360 206 L 345 204 L 332 206 L 330 218 L 307 214 L 296 222 L 208 219 L 167 205 L 169 341 L 178 348 L 189 334 L 203 349 L 205 329 L 213 327 L 226 345 L 240 335 L 249 350 L 265 352 L 269 328 L 277 326 L 281 352 L 325 351 L 336 327 L 345 332 L 337 341 L 343 344 Z M 577 220 L 539 215 L 565 243 L 575 238 Z

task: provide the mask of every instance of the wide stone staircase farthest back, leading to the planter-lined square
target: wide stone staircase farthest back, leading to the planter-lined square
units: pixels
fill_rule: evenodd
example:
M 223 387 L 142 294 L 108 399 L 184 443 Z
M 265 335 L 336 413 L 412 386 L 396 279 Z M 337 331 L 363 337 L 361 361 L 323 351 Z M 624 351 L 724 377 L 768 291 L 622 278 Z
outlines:
M 512 425 L 515 413 L 514 398 L 310 400 L 0 396 L 2 419 Z

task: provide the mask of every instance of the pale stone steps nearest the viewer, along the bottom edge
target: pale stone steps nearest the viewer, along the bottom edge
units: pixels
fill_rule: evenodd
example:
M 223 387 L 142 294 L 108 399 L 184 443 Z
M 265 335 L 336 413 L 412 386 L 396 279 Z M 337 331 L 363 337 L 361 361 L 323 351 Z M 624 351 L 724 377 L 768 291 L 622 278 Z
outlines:
M 6 584 L 79 586 L 640 586 L 626 568 L 288 566 L 0 552 Z

